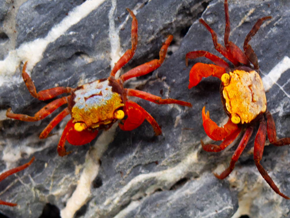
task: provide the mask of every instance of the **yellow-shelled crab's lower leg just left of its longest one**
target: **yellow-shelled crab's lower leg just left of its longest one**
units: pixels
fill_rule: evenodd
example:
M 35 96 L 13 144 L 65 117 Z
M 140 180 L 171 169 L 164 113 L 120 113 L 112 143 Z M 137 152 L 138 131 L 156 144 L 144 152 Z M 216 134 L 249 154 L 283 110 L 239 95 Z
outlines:
M 233 154 L 233 156 L 231 158 L 231 162 L 230 162 L 229 167 L 227 169 L 225 169 L 220 175 L 215 174 L 215 177 L 217 177 L 219 179 L 224 179 L 227 176 L 229 176 L 229 174 L 231 173 L 231 171 L 233 171 L 233 169 L 235 167 L 235 162 L 238 161 L 238 159 L 239 159 L 241 153 L 243 152 L 244 148 L 246 147 L 252 133 L 253 133 L 253 127 L 250 126 L 247 128 L 246 132 L 244 133 L 244 136 L 242 137 L 242 140 L 240 141 L 237 149 L 235 150 L 235 153 Z

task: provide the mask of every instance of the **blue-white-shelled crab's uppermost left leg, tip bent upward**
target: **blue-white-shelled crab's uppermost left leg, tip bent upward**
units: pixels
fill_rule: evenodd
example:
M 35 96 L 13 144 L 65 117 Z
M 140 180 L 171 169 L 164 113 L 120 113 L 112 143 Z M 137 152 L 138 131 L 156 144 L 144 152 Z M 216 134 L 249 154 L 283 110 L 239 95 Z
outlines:
M 30 76 L 26 73 L 26 65 L 27 65 L 27 61 L 24 63 L 23 68 L 22 68 L 22 78 L 26 84 L 26 87 L 28 89 L 28 91 L 30 92 L 30 94 L 37 98 L 38 100 L 48 100 L 48 99 L 52 99 L 54 97 L 56 97 L 57 95 L 60 95 L 62 93 L 71 93 L 72 92 L 72 88 L 70 87 L 55 87 L 55 88 L 51 88 L 51 89 L 46 89 L 46 90 L 42 90 L 40 92 L 36 92 L 35 89 L 35 85 L 33 84 Z

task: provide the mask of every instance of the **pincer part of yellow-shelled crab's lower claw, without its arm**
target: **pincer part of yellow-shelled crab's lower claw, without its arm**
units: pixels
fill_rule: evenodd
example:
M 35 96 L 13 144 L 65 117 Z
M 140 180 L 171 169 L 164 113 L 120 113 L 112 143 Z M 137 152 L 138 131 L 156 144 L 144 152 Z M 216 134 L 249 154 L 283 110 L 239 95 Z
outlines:
M 223 140 L 229 133 L 225 128 L 218 127 L 218 125 L 209 118 L 209 111 L 205 113 L 205 106 L 202 108 L 202 125 L 206 135 L 212 140 Z

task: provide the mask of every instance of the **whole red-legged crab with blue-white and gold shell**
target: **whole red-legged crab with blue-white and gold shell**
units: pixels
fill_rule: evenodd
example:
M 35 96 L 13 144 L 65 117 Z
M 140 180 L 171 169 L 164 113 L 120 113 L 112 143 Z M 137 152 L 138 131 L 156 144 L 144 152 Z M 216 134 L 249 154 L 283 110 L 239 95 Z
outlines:
M 26 73 L 27 62 L 23 65 L 22 77 L 33 97 L 45 101 L 63 93 L 69 93 L 70 95 L 51 101 L 36 112 L 33 117 L 24 114 L 14 114 L 11 112 L 11 108 L 7 110 L 6 116 L 22 121 L 38 121 L 44 119 L 60 106 L 68 104 L 68 107 L 54 117 L 39 135 L 40 139 L 46 138 L 52 128 L 64 117 L 71 115 L 71 119 L 66 124 L 57 145 L 59 156 L 71 153 L 71 151 L 66 152 L 64 147 L 66 141 L 73 145 L 89 143 L 97 136 L 99 130 L 109 129 L 118 120 L 122 122 L 119 122 L 119 127 L 122 130 L 131 131 L 140 126 L 146 119 L 153 127 L 156 135 L 160 135 L 161 129 L 155 119 L 137 103 L 130 101 L 128 96 L 139 97 L 156 104 L 179 104 L 191 107 L 191 103 L 185 101 L 170 98 L 162 99 L 147 92 L 123 87 L 123 83 L 128 79 L 148 74 L 160 67 L 164 61 L 167 48 L 173 39 L 172 35 L 169 35 L 162 45 L 159 59 L 139 65 L 122 74 L 118 79 L 115 78 L 117 71 L 133 57 L 137 47 L 137 19 L 131 10 L 128 8 L 127 10 L 133 18 L 131 24 L 132 48 L 128 49 L 115 63 L 108 78 L 99 79 L 76 88 L 54 87 L 36 92 L 35 85 Z M 125 116 L 126 119 L 124 119 Z

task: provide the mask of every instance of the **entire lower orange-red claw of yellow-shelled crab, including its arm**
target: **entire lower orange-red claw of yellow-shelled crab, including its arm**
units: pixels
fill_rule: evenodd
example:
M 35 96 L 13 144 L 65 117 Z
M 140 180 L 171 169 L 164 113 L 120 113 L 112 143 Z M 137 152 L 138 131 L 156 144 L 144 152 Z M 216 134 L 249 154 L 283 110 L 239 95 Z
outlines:
M 223 140 L 238 128 L 237 124 L 232 123 L 231 119 L 228 120 L 224 127 L 218 127 L 218 125 L 209 118 L 209 111 L 205 113 L 205 106 L 202 108 L 202 125 L 206 135 L 215 141 Z

